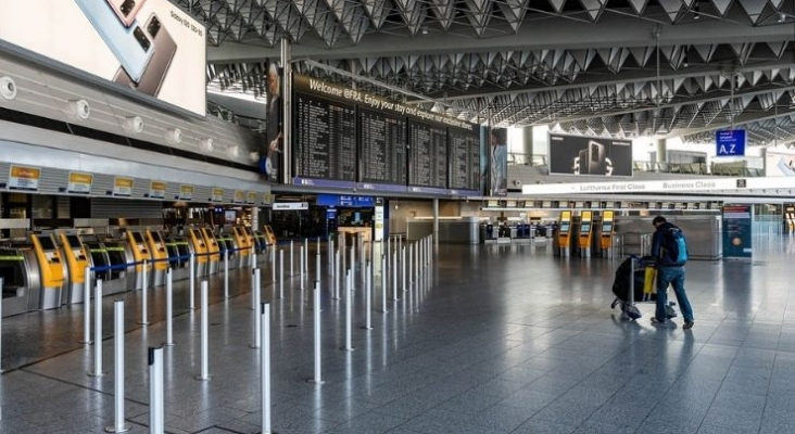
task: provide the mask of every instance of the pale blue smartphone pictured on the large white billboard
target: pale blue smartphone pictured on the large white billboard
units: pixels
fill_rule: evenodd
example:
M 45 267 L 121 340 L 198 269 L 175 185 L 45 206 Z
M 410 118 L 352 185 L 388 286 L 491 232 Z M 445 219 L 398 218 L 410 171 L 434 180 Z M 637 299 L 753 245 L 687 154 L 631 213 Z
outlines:
M 104 0 L 75 0 L 129 77 L 138 82 L 154 54 L 154 46 L 135 21 L 126 27 Z

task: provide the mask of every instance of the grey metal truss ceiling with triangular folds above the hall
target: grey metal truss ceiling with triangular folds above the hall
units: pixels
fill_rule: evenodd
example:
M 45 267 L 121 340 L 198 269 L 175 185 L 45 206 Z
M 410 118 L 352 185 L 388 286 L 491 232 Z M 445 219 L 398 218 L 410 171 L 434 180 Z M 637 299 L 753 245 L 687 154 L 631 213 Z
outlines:
M 782 142 L 795 132 L 794 0 L 177 3 L 207 25 L 212 46 L 223 49 L 235 42 L 267 49 L 287 38 L 295 47 L 320 47 L 327 53 L 320 51 L 312 62 L 296 55 L 298 73 L 340 84 L 356 81 L 358 89 L 476 123 L 551 125 L 564 132 L 616 138 L 684 136 L 692 141 L 711 137 L 715 129 L 747 126 L 753 144 Z M 614 43 L 588 48 L 590 37 L 582 34 L 568 47 L 501 49 L 502 38 L 550 21 L 561 23 L 561 33 L 566 23 L 606 33 L 616 23 L 642 22 L 666 35 L 676 34 L 678 27 L 705 28 L 705 35 L 692 43 L 671 43 L 659 33 L 642 41 L 616 37 Z M 715 26 L 737 29 L 740 36 L 710 42 L 709 29 Z M 766 34 L 768 28 L 775 31 Z M 743 38 L 744 30 L 757 31 L 756 37 Z M 441 37 L 462 42 L 445 52 L 406 52 L 383 44 L 379 52 L 368 48 L 363 49 L 367 55 L 355 55 L 368 39 L 384 36 L 408 38 L 420 47 Z M 477 46 L 475 41 L 483 40 L 494 42 L 485 49 L 466 48 L 466 41 Z M 346 51 L 335 55 L 338 50 Z M 231 58 L 211 62 L 209 88 L 261 95 L 264 62 Z M 352 78 L 356 76 L 367 81 Z M 389 86 L 376 86 L 374 80 Z

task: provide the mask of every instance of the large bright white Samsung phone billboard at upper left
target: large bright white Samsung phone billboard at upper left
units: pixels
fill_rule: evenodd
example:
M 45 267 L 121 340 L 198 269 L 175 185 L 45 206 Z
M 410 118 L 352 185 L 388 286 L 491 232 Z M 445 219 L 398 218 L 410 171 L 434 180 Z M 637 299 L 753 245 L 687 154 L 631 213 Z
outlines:
M 204 26 L 168 0 L 0 0 L 0 40 L 204 116 Z

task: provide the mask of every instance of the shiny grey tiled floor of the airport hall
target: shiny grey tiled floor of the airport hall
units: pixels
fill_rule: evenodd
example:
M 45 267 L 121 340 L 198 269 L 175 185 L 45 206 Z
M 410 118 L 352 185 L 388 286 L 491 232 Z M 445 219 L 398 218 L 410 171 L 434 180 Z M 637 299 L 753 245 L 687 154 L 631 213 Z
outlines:
M 757 240 L 758 241 L 758 240 Z M 353 303 L 354 352 L 344 352 L 345 304 L 321 301 L 323 385 L 313 376 L 308 291 L 293 279 L 272 302 L 273 430 L 277 433 L 792 433 L 795 314 L 788 239 L 762 240 L 750 263 L 692 261 L 687 292 L 696 326 L 683 332 L 621 319 L 611 310 L 617 261 L 554 258 L 546 247 L 442 245 L 432 271 L 380 308 L 362 330 Z M 324 256 L 324 264 L 326 263 Z M 314 266 L 310 267 L 314 270 Z M 314 271 L 313 271 L 314 275 Z M 211 380 L 200 372 L 199 311 L 176 288 L 176 346 L 165 349 L 169 433 L 260 431 L 258 352 L 252 342 L 249 273 L 232 298 L 213 281 Z M 324 282 L 328 288 L 328 282 Z M 126 417 L 148 432 L 147 348 L 165 339 L 163 290 L 126 298 Z M 100 433 L 113 424 L 112 298 L 105 299 L 104 369 L 79 306 L 3 320 L 0 433 Z

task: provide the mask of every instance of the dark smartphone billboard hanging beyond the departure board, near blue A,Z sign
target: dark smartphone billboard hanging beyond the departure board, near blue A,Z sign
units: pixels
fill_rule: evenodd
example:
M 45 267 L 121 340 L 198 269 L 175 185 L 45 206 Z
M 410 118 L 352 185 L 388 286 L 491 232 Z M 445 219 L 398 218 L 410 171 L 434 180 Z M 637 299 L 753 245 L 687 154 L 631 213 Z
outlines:
M 550 174 L 632 176 L 632 141 L 550 135 Z

